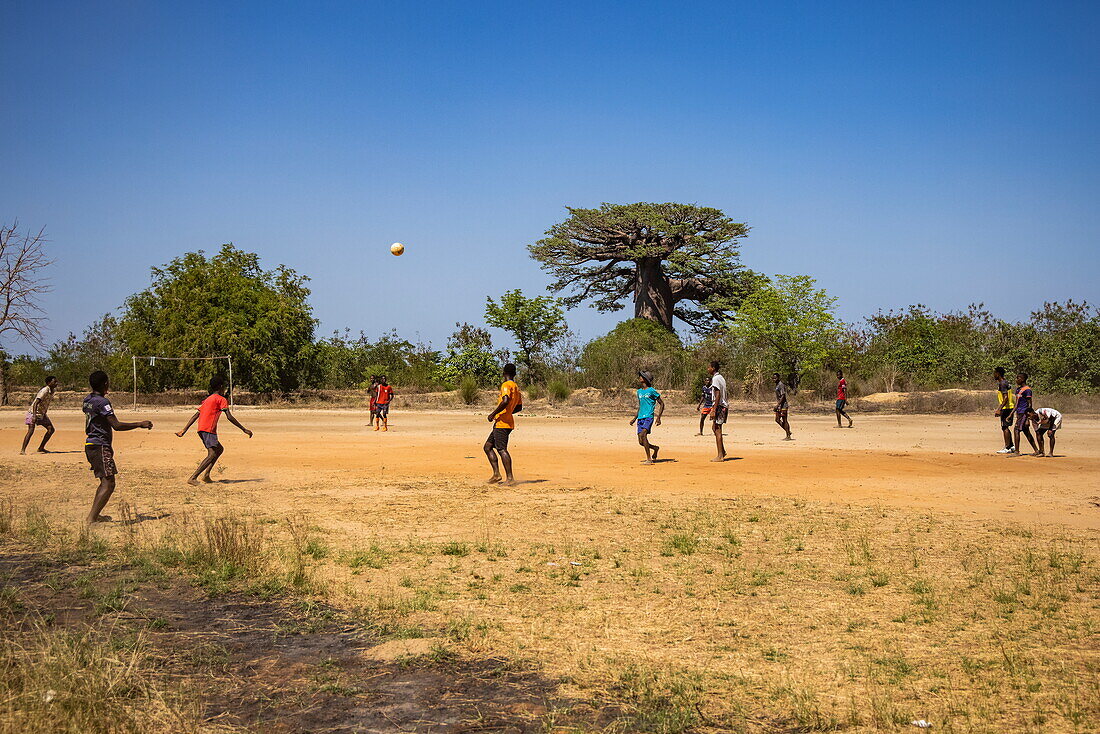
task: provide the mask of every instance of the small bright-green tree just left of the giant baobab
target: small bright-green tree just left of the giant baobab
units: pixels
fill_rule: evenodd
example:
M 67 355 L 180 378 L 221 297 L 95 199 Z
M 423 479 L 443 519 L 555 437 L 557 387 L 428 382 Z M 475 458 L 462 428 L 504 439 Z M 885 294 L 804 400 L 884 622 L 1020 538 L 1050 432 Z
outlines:
M 516 361 L 527 368 L 531 380 L 539 376 L 539 364 L 544 360 L 547 350 L 569 331 L 557 298 L 528 298 L 519 288 L 501 296 L 501 303 L 486 298 L 485 322 L 504 329 L 515 338 Z

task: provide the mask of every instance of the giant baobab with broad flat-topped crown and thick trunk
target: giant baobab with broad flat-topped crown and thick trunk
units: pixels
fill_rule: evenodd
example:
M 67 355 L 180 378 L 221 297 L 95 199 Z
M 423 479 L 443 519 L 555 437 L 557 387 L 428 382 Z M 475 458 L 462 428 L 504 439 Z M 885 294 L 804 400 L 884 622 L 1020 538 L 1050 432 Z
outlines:
M 750 293 L 760 276 L 740 263 L 749 228 L 719 209 L 689 204 L 603 204 L 569 209 L 569 218 L 528 245 L 550 286 L 616 311 L 634 297 L 636 318 L 672 329 L 679 318 L 697 331 L 717 326 L 724 311 Z

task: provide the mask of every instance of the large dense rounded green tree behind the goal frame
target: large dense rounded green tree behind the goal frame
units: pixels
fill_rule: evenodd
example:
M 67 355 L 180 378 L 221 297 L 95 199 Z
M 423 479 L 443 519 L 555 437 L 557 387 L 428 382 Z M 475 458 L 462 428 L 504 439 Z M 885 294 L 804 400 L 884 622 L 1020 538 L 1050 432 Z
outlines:
M 232 244 L 210 258 L 201 250 L 153 269 L 153 284 L 127 299 L 119 319 L 133 354 L 233 358 L 233 376 L 256 392 L 299 386 L 316 321 L 307 277 Z M 166 363 L 145 371 L 146 386 L 197 386 L 220 366 Z

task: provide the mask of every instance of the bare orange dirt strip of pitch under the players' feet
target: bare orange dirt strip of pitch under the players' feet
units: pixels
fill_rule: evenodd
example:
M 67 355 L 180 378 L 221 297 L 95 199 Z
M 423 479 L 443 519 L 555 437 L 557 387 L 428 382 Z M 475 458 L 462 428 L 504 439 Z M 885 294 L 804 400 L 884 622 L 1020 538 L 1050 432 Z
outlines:
M 122 413 L 125 419 L 132 412 Z M 154 420 L 155 430 L 117 437 L 120 486 L 142 470 L 186 475 L 201 456 L 194 435 L 173 435 L 187 415 L 142 410 L 140 417 Z M 66 453 L 13 456 L 6 462 L 36 476 L 34 490 L 43 497 L 51 496 L 46 467 L 85 468 L 81 415 L 55 410 L 53 416 L 58 434 L 52 448 Z M 343 494 L 387 480 L 480 482 L 487 473 L 481 445 L 488 426 L 481 413 L 398 412 L 389 432 L 372 431 L 366 416 L 352 410 L 243 408 L 239 417 L 256 437 L 250 441 L 223 421 L 228 452 L 220 476 L 227 484 L 219 491 L 224 493 L 302 501 L 297 487 L 304 484 L 320 482 Z M 1100 420 L 1094 418 L 1067 417 L 1055 459 L 996 456 L 1000 437 L 991 416 L 857 416 L 856 428 L 848 430 L 837 429 L 832 417 L 794 415 L 792 427 L 795 440 L 784 442 L 769 416 L 735 416 L 726 430 L 730 460 L 719 465 L 710 461 L 713 438 L 694 436 L 696 420 L 670 417 L 653 436 L 664 461 L 642 465 L 626 417 L 524 416 L 513 436 L 521 483 L 497 492 L 522 497 L 534 490 L 598 487 L 654 497 L 792 496 L 1100 529 Z M 0 432 L 14 453 L 22 427 Z M 12 480 L 19 483 L 18 476 Z M 188 495 L 180 487 L 178 496 Z

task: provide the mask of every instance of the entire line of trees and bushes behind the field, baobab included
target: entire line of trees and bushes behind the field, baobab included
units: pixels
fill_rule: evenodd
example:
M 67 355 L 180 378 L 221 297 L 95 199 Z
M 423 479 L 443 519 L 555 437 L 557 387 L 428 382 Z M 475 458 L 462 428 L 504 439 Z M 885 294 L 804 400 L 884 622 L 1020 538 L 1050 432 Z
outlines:
M 744 267 L 748 227 L 717 209 L 605 204 L 569 213 L 529 247 L 556 277 L 554 295 L 513 289 L 490 296 L 484 321 L 457 324 L 440 347 L 394 331 L 318 337 L 307 276 L 282 265 L 265 270 L 257 254 L 224 244 L 153 267 L 151 285 L 116 313 L 42 355 L 4 355 L 3 373 L 24 385 L 54 374 L 63 386 L 82 388 L 89 372 L 107 369 L 117 386 L 132 387 L 131 355 L 226 354 L 237 385 L 255 393 L 356 388 L 375 374 L 428 391 L 488 386 L 502 361 L 512 360 L 522 381 L 556 393 L 627 386 L 638 369 L 653 372 L 664 388 L 695 391 L 702 365 L 718 359 L 732 391 L 739 383 L 746 395 L 762 392 L 772 372 L 794 388 L 825 394 L 837 368 L 862 392 L 988 386 L 996 365 L 1031 373 L 1045 392 L 1100 390 L 1100 313 L 1087 304 L 1044 304 L 1025 321 L 1000 319 L 980 305 L 949 314 L 914 305 L 845 324 L 836 299 L 812 277 Z M 30 262 L 37 267 L 24 269 L 20 281 L 26 318 L 11 327 L 26 331 L 41 322 L 32 286 L 41 285 L 48 260 L 41 232 L 20 239 L 6 231 L 9 272 L 19 271 L 19 252 L 30 249 L 36 258 Z M 610 332 L 587 343 L 570 332 L 568 308 L 588 302 L 618 310 L 628 300 L 635 318 Z M 688 325 L 686 338 L 673 330 L 675 320 Z M 506 332 L 509 343 L 494 343 L 488 328 Z M 223 369 L 219 362 L 142 364 L 138 388 L 197 387 Z

